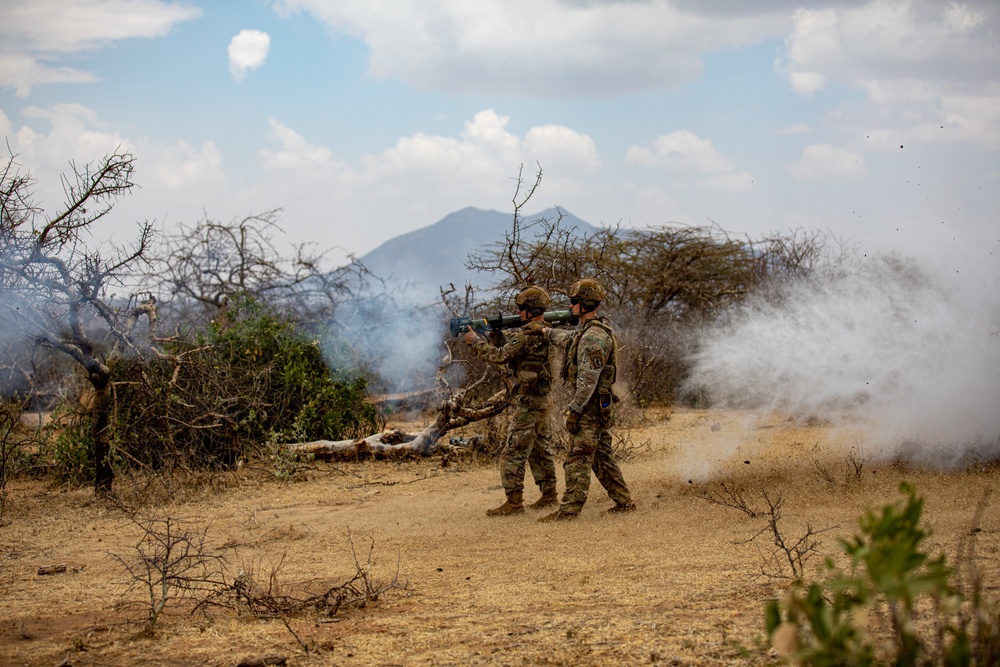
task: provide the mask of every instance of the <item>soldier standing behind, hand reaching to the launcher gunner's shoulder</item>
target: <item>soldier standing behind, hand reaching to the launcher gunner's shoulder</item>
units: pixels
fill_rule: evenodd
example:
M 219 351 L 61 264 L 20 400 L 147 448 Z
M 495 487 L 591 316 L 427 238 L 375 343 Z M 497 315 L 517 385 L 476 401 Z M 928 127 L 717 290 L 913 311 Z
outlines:
M 562 377 L 572 392 L 566 410 L 566 430 L 570 433 L 569 454 L 563 463 L 566 491 L 558 511 L 539 521 L 575 519 L 587 502 L 591 470 L 615 501 L 609 512 L 635 509 L 611 449 L 609 429 L 613 405 L 618 400 L 611 385 L 616 375 L 618 341 L 610 320 L 597 314 L 606 292 L 596 280 L 584 278 L 573 283 L 568 295 L 573 314 L 580 318 L 580 328 L 573 332 L 538 329 L 554 344 L 566 345 Z

